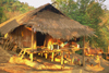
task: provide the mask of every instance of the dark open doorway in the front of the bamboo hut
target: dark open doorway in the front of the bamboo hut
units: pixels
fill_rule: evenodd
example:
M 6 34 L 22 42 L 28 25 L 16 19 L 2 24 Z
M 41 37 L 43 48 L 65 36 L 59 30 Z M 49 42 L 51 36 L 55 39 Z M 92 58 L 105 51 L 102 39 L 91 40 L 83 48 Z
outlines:
M 36 34 L 37 46 L 44 46 L 45 37 L 46 37 L 45 34 L 37 32 Z

